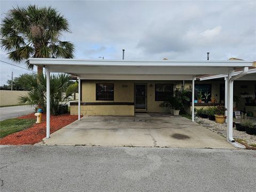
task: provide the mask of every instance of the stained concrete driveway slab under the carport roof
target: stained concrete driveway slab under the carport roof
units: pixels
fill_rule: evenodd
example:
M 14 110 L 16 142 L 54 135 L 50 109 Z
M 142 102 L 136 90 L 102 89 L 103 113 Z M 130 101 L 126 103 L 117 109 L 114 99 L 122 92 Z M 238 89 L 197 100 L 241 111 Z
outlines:
M 185 117 L 136 114 L 86 116 L 43 139 L 45 145 L 235 148 Z

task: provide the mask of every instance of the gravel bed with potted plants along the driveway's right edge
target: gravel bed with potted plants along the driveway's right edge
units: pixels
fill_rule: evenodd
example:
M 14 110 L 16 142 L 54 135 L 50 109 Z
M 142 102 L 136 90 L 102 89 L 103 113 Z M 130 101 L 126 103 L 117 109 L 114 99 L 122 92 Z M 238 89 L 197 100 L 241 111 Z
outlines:
M 201 117 L 195 117 L 195 122 L 201 124 L 202 126 L 206 127 L 207 129 L 216 132 L 223 137 L 226 138 L 227 136 L 227 124 L 223 123 L 216 123 L 215 121 L 210 121 L 206 118 Z M 233 138 L 234 139 L 243 139 L 245 140 L 249 145 L 256 144 L 256 135 L 250 135 L 247 134 L 245 131 L 237 131 L 236 128 L 233 128 Z

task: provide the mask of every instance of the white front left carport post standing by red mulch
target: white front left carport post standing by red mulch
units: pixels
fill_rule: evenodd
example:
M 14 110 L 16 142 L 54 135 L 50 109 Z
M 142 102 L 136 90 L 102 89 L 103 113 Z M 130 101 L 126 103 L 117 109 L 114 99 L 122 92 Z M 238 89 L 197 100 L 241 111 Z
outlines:
M 50 138 L 50 69 L 45 66 L 46 73 L 46 138 Z

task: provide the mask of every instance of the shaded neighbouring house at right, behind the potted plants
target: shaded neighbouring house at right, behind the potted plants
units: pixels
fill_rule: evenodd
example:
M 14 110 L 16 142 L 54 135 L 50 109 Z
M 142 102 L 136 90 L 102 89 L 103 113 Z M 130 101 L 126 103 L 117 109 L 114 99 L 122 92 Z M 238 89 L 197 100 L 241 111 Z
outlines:
M 239 60 L 231 58 L 230 60 Z M 241 73 L 243 69 L 236 69 L 235 74 Z M 219 103 L 225 103 L 225 77 L 227 75 L 205 75 L 197 77 L 196 90 L 209 92 L 214 95 Z M 248 73 L 234 82 L 234 110 L 245 111 L 256 117 L 256 61 L 253 67 L 249 67 Z M 212 106 L 212 103 L 195 103 L 196 108 Z M 190 111 L 187 110 L 189 113 Z

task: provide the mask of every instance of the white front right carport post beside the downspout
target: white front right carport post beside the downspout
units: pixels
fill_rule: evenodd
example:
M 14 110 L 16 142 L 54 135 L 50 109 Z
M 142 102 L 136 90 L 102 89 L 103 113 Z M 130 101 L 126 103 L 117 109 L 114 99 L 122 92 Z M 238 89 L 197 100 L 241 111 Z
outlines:
M 228 117 L 228 124 L 227 124 L 227 140 L 234 142 L 235 140 L 233 139 L 233 79 L 231 79 L 232 75 L 234 73 L 233 68 L 229 68 L 229 73 L 228 73 L 228 95 L 227 95 L 227 100 L 228 100 L 228 111 L 227 111 L 227 117 Z

